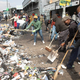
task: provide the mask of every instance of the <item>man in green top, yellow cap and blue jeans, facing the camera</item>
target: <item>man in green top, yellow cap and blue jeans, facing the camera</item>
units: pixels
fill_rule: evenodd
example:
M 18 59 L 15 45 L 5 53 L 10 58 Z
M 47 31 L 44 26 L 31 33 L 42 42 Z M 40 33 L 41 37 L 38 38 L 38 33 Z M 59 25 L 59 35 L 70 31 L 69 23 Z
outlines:
M 33 30 L 33 32 L 34 32 L 34 45 L 36 45 L 37 32 L 39 32 L 39 34 L 42 38 L 42 42 L 45 43 L 44 39 L 43 39 L 43 35 L 42 35 L 41 22 L 38 21 L 38 17 L 36 15 L 34 16 L 34 20 L 29 24 L 29 26 L 26 29 L 30 28 L 32 25 L 34 26 L 34 30 Z

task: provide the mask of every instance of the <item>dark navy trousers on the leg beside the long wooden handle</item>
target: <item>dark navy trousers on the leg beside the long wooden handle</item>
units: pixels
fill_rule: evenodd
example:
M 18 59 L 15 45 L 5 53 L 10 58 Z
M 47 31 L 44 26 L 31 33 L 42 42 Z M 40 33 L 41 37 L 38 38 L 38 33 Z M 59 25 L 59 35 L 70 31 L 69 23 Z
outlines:
M 69 59 L 68 64 L 67 64 L 68 69 L 72 68 L 73 63 L 77 58 L 78 50 L 79 50 L 79 47 L 72 50 L 71 55 L 70 55 L 70 59 Z

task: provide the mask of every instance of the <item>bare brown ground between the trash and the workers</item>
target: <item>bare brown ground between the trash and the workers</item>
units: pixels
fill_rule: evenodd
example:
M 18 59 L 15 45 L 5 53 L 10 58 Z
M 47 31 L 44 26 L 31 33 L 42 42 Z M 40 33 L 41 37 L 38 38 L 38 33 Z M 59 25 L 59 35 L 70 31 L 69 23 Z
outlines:
M 23 45 L 23 51 L 27 53 L 27 56 L 31 57 L 30 60 L 33 62 L 31 64 L 32 67 L 57 67 L 65 54 L 58 52 L 59 56 L 53 63 L 48 61 L 47 56 L 50 54 L 50 52 L 45 50 L 45 46 L 49 45 L 50 39 L 49 33 L 45 31 L 45 28 L 45 25 L 43 25 L 42 30 L 45 44 L 43 44 L 41 42 L 41 38 L 37 36 L 37 45 L 34 46 L 34 36 L 31 36 L 30 32 L 27 32 L 24 35 L 21 35 L 19 39 L 14 40 L 16 44 Z M 54 41 L 52 45 L 53 50 L 56 50 L 58 48 L 58 41 Z M 43 57 L 37 57 L 43 54 Z M 70 52 L 68 53 L 65 61 L 63 62 L 64 65 L 67 64 L 69 56 Z M 63 76 L 58 75 L 58 78 L 56 80 L 80 80 L 80 65 L 78 65 L 77 61 L 75 61 L 74 66 L 75 68 L 72 70 L 62 69 L 64 72 Z

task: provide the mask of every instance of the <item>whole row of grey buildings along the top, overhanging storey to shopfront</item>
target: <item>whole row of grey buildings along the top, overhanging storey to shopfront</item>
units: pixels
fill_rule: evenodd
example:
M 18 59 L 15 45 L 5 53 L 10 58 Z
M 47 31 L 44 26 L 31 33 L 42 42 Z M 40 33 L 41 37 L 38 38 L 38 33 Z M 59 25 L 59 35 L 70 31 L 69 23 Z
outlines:
M 53 14 L 59 13 L 62 16 L 63 7 L 59 5 L 60 0 L 24 0 L 23 10 L 31 15 L 36 13 L 38 15 L 45 14 L 47 19 L 50 19 Z M 71 0 L 69 6 L 66 6 L 66 12 L 71 15 L 76 12 L 76 8 L 79 5 L 79 0 Z

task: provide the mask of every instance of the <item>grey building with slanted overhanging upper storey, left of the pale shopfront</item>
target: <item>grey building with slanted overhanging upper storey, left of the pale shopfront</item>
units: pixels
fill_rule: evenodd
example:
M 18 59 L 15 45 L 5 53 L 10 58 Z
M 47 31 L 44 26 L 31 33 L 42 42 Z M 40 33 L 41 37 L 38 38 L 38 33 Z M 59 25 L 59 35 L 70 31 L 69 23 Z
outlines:
M 48 0 L 24 0 L 23 10 L 31 15 L 32 13 L 36 13 L 38 15 L 43 13 L 44 5 L 48 4 Z

